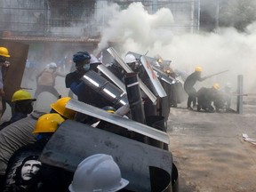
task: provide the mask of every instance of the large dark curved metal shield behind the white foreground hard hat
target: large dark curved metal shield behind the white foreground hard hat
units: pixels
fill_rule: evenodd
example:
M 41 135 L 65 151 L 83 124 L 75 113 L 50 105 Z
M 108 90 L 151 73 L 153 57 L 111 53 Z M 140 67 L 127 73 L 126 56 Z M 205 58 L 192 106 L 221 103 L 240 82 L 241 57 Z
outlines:
M 130 181 L 127 189 L 132 191 L 151 191 L 149 167 L 172 175 L 171 152 L 71 120 L 60 124 L 40 160 L 75 172 L 84 158 L 99 153 L 113 156 L 122 177 Z

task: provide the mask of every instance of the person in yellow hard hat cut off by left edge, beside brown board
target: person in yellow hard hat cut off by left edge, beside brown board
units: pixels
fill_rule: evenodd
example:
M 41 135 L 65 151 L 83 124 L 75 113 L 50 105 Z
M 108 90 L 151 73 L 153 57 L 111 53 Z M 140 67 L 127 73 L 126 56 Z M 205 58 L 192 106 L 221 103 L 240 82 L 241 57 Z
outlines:
M 10 58 L 10 54 L 7 48 L 0 47 L 0 119 L 3 115 L 3 106 L 2 106 L 2 97 L 4 96 L 4 82 L 3 82 L 3 67 L 8 68 L 10 62 L 7 61 L 7 58 Z

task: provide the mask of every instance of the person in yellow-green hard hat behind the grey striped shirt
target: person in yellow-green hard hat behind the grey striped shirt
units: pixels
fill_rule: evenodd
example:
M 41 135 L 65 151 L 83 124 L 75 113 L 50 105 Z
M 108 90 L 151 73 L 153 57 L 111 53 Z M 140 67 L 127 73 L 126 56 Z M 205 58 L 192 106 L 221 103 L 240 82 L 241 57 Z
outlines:
M 33 102 L 35 98 L 31 97 L 31 94 L 25 90 L 18 90 L 12 95 L 12 104 L 14 108 L 14 114 L 12 118 L 0 125 L 0 130 L 4 129 L 9 124 L 19 121 L 22 118 L 28 116 L 33 111 Z

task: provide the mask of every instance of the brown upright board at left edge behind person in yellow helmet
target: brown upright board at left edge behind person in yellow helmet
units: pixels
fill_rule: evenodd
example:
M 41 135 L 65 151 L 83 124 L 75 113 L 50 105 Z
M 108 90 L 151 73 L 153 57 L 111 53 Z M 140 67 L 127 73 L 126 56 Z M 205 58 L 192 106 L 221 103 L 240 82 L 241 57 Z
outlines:
M 13 93 L 20 89 L 26 60 L 28 58 L 29 45 L 0 39 L 0 46 L 6 47 L 11 55 L 8 59 L 11 65 L 9 68 L 6 68 L 4 75 L 5 95 L 3 97 L 5 100 L 11 101 Z M 13 78 L 14 76 L 15 78 Z

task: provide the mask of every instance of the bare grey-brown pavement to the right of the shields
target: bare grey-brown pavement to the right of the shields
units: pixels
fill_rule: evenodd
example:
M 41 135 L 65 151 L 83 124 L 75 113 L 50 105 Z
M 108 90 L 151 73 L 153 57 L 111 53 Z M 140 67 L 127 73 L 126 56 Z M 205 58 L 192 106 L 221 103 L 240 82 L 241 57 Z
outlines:
M 204 113 L 185 104 L 171 108 L 169 149 L 179 171 L 180 192 L 256 191 L 256 98 L 243 114 Z

